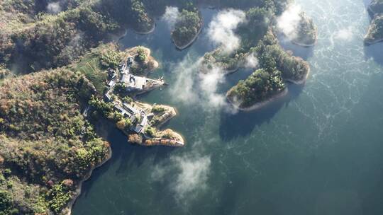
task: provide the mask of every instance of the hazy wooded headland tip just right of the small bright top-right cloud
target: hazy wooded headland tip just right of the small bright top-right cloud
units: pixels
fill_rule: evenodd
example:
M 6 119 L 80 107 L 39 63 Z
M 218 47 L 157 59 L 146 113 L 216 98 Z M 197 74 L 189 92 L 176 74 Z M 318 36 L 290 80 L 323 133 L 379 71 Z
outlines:
M 311 47 L 318 40 L 318 28 L 313 20 L 305 12 L 299 13 L 300 21 L 297 26 L 297 34 L 292 42 L 302 47 Z

